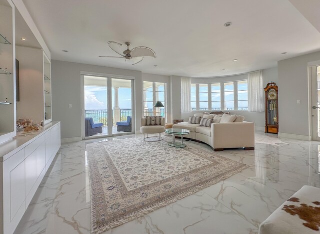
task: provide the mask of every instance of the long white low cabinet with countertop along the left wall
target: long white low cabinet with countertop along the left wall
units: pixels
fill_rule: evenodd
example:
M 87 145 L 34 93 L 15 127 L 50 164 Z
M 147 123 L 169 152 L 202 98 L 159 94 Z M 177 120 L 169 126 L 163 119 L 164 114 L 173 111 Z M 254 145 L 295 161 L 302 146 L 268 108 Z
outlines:
M 13 233 L 60 148 L 60 122 L 0 145 L 0 233 Z

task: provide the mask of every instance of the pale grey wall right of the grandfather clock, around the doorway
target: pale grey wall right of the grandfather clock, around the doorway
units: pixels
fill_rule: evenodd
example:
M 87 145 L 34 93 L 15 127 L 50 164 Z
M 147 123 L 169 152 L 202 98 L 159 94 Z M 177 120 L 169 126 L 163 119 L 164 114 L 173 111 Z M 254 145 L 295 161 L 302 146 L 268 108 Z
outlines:
M 320 52 L 278 61 L 279 133 L 311 135 L 307 64 L 317 60 Z

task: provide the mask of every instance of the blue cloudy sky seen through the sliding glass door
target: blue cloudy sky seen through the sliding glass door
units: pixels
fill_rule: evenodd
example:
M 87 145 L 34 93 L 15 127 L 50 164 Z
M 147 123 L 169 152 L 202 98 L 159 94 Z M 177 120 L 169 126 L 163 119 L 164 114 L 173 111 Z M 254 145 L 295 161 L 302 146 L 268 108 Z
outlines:
M 120 109 L 131 109 L 131 89 L 119 88 L 119 107 Z M 112 97 L 114 97 L 114 89 L 112 88 Z M 103 86 L 84 86 L 84 109 L 102 109 L 106 110 L 107 96 L 106 87 Z M 114 100 L 112 101 L 112 108 Z

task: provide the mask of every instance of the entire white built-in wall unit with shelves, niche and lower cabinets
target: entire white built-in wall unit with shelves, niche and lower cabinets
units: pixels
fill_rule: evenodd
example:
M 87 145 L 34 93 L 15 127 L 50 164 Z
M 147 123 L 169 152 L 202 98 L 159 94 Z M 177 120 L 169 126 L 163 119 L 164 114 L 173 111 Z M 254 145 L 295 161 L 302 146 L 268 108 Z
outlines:
M 60 122 L 51 122 L 50 59 L 40 47 L 16 45 L 18 13 L 11 0 L 0 0 L 0 234 L 13 233 L 60 147 Z M 45 125 L 16 134 L 19 118 Z

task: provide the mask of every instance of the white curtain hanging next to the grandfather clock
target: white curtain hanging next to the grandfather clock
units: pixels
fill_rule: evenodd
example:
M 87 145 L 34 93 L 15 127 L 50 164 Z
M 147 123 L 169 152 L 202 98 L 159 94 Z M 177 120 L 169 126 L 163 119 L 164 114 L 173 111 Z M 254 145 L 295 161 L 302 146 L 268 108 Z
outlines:
M 262 71 L 248 73 L 248 111 L 263 112 Z

